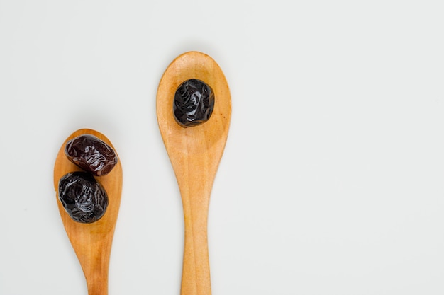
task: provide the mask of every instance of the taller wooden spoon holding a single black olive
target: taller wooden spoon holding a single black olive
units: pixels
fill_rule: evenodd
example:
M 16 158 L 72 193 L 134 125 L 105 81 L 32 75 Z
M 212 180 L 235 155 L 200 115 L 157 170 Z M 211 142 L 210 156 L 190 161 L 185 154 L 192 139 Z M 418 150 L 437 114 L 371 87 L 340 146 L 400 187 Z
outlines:
M 211 86 L 215 102 L 207 122 L 184 128 L 174 120 L 173 100 L 177 87 L 188 79 L 198 79 Z M 207 243 L 209 198 L 230 118 L 230 90 L 218 64 L 201 52 L 187 52 L 174 59 L 157 89 L 157 121 L 184 209 L 182 295 L 211 294 Z

